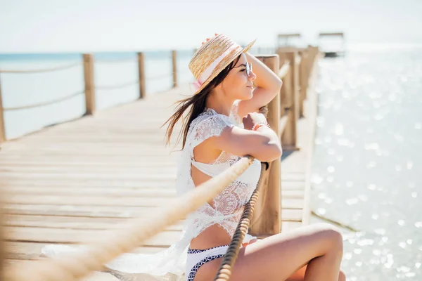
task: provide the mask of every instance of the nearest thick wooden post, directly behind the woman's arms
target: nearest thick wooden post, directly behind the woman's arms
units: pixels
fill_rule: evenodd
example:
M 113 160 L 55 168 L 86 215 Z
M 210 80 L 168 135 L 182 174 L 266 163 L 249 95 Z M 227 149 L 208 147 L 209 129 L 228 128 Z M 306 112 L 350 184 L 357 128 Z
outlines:
M 260 55 L 257 57 L 272 71 L 279 72 L 279 55 Z M 268 105 L 269 126 L 280 136 L 280 95 Z M 281 232 L 281 159 L 269 163 L 267 184 L 262 186 L 257 201 L 250 233 L 266 237 Z

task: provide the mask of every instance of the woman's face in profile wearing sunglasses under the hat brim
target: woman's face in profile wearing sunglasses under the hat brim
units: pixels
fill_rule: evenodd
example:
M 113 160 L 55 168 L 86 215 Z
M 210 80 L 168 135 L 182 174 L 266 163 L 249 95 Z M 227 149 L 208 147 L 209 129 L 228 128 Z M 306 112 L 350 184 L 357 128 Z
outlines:
M 248 63 L 248 60 L 245 53 L 242 53 L 234 68 L 230 70 L 220 84 L 223 92 L 235 100 L 249 100 L 253 96 L 252 81 L 257 76 L 252 71 L 249 76 L 246 74 L 246 63 Z

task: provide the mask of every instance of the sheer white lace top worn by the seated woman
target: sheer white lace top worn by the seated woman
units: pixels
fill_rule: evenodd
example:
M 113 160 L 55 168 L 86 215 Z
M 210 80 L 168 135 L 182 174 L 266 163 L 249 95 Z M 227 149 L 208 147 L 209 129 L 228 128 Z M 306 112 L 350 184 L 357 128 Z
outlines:
M 191 177 L 191 165 L 209 176 L 216 176 L 241 158 L 223 151 L 214 162 L 205 164 L 196 162 L 193 155 L 193 149 L 207 138 L 219 136 L 224 129 L 231 126 L 243 127 L 237 115 L 237 105 L 238 103 L 234 103 L 230 117 L 206 109 L 191 122 L 177 169 L 176 188 L 179 195 L 195 188 Z M 255 190 L 259 177 L 260 162 L 255 159 L 241 176 L 215 197 L 212 205 L 205 203 L 187 216 L 179 242 L 157 254 L 122 254 L 106 265 L 109 269 L 107 271 L 120 280 L 185 280 L 184 266 L 191 240 L 215 224 L 221 226 L 232 237 L 243 206 Z M 246 235 L 243 242 L 248 242 L 252 238 L 254 237 Z M 42 254 L 53 257 L 68 251 L 75 251 L 75 248 L 48 245 L 42 249 Z

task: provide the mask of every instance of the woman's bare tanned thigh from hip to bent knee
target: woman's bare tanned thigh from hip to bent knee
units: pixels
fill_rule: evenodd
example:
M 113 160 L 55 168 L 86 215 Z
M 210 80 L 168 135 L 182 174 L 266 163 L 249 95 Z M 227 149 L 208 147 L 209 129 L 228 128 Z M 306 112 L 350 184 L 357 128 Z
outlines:
M 241 248 L 231 273 L 231 281 L 287 280 L 311 259 L 322 256 L 341 235 L 331 226 L 315 224 L 272 235 Z M 205 263 L 195 281 L 211 280 L 222 258 Z

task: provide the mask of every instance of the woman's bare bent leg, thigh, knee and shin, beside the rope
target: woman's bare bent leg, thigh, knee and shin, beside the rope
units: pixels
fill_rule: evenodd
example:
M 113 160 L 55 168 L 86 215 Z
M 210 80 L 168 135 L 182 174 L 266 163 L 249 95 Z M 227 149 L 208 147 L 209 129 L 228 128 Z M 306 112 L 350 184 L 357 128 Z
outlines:
M 231 281 L 288 280 L 307 265 L 305 281 L 338 281 L 343 256 L 343 239 L 326 223 L 313 224 L 280 233 L 241 249 Z M 201 266 L 195 281 L 214 277 L 221 263 L 215 259 Z

